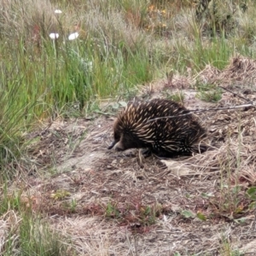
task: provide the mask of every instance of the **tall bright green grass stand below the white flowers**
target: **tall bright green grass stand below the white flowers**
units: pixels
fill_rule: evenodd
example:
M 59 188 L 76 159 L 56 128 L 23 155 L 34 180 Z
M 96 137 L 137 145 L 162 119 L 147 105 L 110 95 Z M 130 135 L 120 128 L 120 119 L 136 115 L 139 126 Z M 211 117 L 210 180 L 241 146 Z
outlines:
M 135 85 L 154 78 L 154 61 L 140 45 L 106 45 L 104 34 L 65 44 L 39 36 L 39 46 L 28 47 L 22 37 L 15 44 L 9 38 L 8 44 L 0 44 L 6 53 L 0 61 L 1 163 L 20 157 L 21 135 L 38 120 L 72 113 L 67 108 L 74 103 L 80 115 L 86 115 L 91 111 L 88 104 L 116 95 L 129 97 Z

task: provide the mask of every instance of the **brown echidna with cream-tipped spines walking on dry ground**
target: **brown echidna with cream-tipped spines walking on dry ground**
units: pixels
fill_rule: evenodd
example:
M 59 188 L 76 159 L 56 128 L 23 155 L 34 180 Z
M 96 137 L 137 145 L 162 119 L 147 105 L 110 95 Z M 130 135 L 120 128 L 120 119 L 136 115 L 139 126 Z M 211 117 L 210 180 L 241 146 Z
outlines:
M 156 119 L 167 116 L 177 117 Z M 207 131 L 195 115 L 177 102 L 164 99 L 128 103 L 114 122 L 113 137 L 108 149 L 148 148 L 160 157 L 190 155 L 207 149 L 201 143 Z

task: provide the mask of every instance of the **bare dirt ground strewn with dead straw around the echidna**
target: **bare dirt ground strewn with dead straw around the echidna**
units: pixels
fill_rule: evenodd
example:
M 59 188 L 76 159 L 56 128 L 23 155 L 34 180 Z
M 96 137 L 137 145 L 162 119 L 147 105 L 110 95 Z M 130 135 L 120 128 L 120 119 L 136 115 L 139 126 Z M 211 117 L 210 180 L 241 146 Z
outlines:
M 208 77 L 213 74 L 220 76 L 211 71 Z M 188 89 L 192 81 L 151 84 L 151 97 L 162 96 L 166 86 L 181 86 L 187 108 L 212 106 Z M 256 100 L 253 90 L 243 96 Z M 241 103 L 224 92 L 218 106 Z M 255 253 L 255 201 L 247 196 L 256 185 L 255 108 L 199 116 L 212 149 L 174 160 L 144 159 L 138 150 L 108 150 L 113 136 L 108 116 L 55 122 L 40 134 L 32 154 L 39 166 L 55 159 L 54 175 L 29 177 L 26 193 L 34 210 L 71 237 L 79 255 Z

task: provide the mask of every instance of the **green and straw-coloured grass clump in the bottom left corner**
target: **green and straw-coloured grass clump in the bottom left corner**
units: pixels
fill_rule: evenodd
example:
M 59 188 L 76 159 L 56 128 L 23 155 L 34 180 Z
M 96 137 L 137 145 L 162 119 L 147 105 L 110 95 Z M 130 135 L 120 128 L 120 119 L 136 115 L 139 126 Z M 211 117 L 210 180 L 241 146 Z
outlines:
M 0 218 L 8 227 L 3 236 L 1 255 L 75 255 L 67 240 L 32 213 L 32 199 L 22 197 L 22 190 L 8 194 L 1 191 Z

